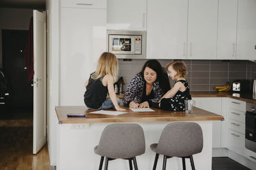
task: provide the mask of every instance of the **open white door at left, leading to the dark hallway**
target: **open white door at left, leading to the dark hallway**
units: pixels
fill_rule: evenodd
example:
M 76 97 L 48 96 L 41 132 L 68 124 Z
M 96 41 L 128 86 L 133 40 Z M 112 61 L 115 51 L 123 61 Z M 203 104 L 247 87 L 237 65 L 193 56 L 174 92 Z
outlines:
M 33 153 L 46 143 L 46 15 L 33 10 L 34 101 Z

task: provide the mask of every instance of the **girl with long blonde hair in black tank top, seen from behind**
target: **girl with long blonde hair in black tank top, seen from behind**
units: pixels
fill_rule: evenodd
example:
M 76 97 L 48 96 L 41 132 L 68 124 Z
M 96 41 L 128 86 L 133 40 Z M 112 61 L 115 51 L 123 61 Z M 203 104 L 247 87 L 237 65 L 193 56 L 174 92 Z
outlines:
M 116 98 L 114 82 L 117 79 L 118 60 L 113 53 L 104 52 L 100 55 L 97 69 L 90 74 L 89 80 L 84 87 L 84 104 L 92 110 L 105 110 L 115 108 L 118 111 L 124 111 L 120 108 L 120 100 Z M 107 99 L 109 93 L 110 99 Z

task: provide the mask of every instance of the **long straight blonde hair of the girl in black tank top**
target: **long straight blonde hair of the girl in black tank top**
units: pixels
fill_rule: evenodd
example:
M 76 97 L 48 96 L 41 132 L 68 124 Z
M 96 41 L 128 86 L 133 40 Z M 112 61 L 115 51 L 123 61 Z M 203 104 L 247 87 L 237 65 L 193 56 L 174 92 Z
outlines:
M 116 55 L 109 52 L 104 52 L 100 55 L 97 69 L 91 75 L 92 79 L 102 78 L 106 74 L 109 74 L 113 77 L 114 82 L 117 80 L 118 74 L 118 60 Z

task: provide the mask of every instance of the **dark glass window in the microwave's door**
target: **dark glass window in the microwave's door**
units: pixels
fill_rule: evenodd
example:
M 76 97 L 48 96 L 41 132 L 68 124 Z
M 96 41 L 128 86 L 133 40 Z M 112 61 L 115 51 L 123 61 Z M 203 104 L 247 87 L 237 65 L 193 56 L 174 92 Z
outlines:
M 131 38 L 113 38 L 112 50 L 131 52 Z

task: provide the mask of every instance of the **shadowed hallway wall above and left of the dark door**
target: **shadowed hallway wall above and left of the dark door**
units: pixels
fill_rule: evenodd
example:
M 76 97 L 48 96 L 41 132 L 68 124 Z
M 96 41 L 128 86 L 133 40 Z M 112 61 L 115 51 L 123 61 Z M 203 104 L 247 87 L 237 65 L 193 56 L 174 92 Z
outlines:
M 0 68 L 3 68 L 1 29 L 29 30 L 32 16 L 31 9 L 0 8 Z

